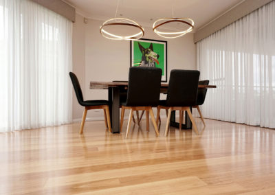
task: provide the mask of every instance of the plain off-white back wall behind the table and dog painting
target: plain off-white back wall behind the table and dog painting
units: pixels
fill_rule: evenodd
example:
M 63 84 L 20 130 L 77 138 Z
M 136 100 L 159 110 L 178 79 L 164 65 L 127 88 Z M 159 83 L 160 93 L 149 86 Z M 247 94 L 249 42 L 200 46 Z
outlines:
M 83 87 L 86 100 L 107 100 L 108 98 L 107 90 L 89 89 L 91 80 L 128 80 L 130 41 L 111 41 L 102 37 L 99 27 L 103 22 L 89 19 L 88 23 L 84 24 L 83 17 L 76 14 L 73 37 L 74 43 L 76 43 L 73 45 L 74 71 L 83 77 L 80 84 Z M 196 49 L 193 43 L 193 34 L 186 34 L 181 38 L 164 39 L 157 36 L 151 27 L 144 28 L 144 38 L 167 41 L 168 80 L 172 69 L 196 69 Z M 85 65 L 83 65 L 83 59 L 85 59 Z M 85 69 L 85 75 L 83 75 L 83 69 Z M 164 99 L 164 97 L 162 95 L 161 98 Z M 74 119 L 80 119 L 82 111 L 83 108 L 74 101 Z M 103 113 L 101 111 L 89 111 L 87 117 L 103 119 Z

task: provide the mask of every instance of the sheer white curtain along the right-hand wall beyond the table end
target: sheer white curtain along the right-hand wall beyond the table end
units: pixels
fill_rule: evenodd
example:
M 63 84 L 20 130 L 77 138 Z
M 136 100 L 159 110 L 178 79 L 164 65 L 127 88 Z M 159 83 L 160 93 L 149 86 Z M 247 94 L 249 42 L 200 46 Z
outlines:
M 197 43 L 203 116 L 275 128 L 275 1 Z

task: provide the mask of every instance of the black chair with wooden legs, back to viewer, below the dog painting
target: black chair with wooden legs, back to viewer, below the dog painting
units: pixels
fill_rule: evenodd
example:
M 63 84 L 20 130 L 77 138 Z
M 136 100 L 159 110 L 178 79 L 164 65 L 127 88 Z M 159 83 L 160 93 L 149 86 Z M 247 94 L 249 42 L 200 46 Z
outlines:
M 121 126 L 123 125 L 124 111 L 130 110 L 126 136 L 128 137 L 131 126 L 133 111 L 149 111 L 151 120 L 155 128 L 155 133 L 159 136 L 155 116 L 152 106 L 159 104 L 160 81 L 162 69 L 151 67 L 131 67 L 129 69 L 129 84 L 126 102 L 122 103 Z

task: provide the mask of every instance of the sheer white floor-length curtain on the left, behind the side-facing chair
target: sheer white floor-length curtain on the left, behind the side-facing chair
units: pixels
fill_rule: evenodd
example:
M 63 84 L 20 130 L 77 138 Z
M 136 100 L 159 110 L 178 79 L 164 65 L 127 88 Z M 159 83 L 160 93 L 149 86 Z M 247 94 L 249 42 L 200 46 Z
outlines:
M 72 22 L 0 0 L 0 132 L 72 122 Z

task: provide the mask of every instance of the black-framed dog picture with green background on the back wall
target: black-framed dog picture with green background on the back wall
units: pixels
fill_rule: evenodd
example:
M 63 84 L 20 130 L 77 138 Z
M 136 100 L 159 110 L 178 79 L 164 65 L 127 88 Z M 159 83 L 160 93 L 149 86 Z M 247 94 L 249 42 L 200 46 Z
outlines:
M 162 69 L 162 82 L 167 82 L 167 41 L 141 38 L 130 43 L 131 67 Z

